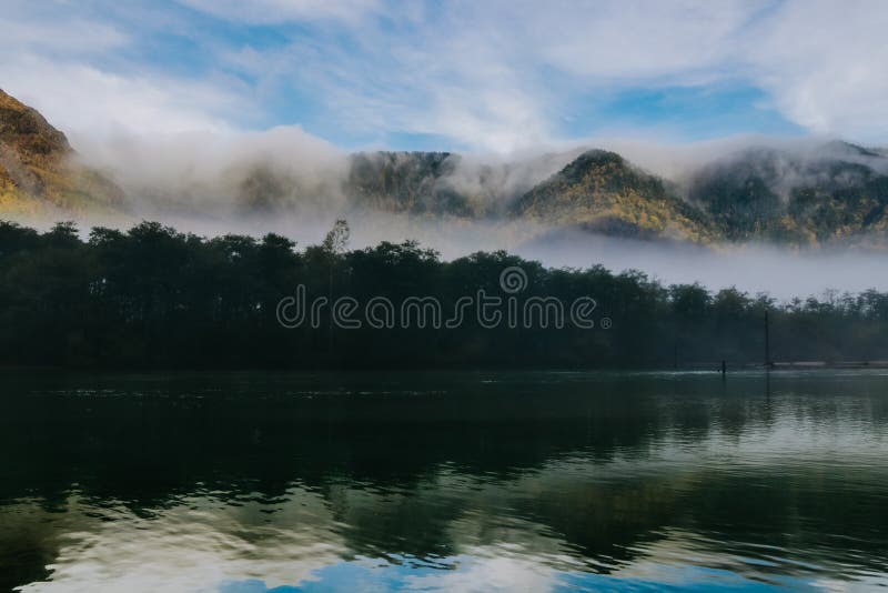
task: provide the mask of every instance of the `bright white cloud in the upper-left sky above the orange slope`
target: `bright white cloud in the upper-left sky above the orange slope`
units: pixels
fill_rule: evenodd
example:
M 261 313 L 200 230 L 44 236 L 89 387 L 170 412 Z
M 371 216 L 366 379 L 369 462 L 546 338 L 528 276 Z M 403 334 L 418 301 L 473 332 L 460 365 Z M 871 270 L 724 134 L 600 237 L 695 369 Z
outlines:
M 0 88 L 65 132 L 228 132 L 249 111 L 236 80 L 183 79 L 133 59 L 144 50 L 123 21 L 67 2 L 4 10 Z

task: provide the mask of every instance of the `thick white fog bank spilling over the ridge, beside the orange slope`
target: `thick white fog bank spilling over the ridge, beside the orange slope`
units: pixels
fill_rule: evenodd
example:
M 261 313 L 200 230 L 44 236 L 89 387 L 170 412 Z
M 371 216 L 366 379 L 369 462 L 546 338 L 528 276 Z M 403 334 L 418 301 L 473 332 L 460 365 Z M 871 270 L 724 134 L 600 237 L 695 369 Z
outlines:
M 275 200 L 281 211 L 323 218 L 342 207 L 346 155 L 299 127 L 238 134 L 118 133 L 98 140 L 75 134 L 73 141 L 87 162 L 124 190 L 133 212 L 151 218 L 170 212 L 229 217 L 244 208 L 253 179 L 261 188 L 256 193 Z

